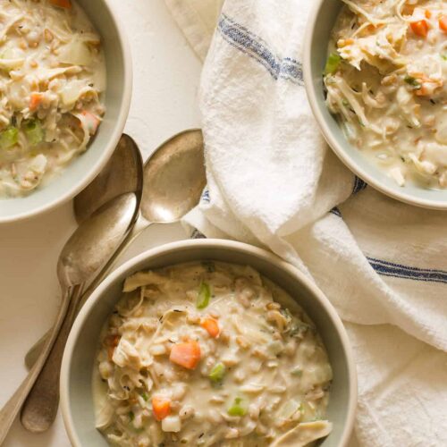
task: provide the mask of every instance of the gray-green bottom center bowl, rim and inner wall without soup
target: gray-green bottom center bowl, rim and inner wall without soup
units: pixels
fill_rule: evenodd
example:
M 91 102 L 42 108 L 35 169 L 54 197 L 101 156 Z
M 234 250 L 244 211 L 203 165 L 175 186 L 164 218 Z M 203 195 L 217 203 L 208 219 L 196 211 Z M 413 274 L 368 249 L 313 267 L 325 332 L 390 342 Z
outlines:
M 263 249 L 229 240 L 184 240 L 151 249 L 110 274 L 89 298 L 73 325 L 63 354 L 61 408 L 72 445 L 107 445 L 95 428 L 92 372 L 96 367 L 99 333 L 122 296 L 124 279 L 142 269 L 205 259 L 253 266 L 288 291 L 315 322 L 333 366 L 333 386 L 327 413 L 333 422 L 333 433 L 321 445 L 345 446 L 354 423 L 357 375 L 342 321 L 325 295 L 296 268 Z

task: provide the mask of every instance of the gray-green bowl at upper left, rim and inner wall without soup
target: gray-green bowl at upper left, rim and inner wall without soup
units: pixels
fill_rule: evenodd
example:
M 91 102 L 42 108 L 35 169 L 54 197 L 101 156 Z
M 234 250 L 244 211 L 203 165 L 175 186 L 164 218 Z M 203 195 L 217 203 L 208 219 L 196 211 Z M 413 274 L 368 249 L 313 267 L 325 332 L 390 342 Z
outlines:
M 0 199 L 0 223 L 38 215 L 83 190 L 103 168 L 121 137 L 132 90 L 131 50 L 108 0 L 77 0 L 102 38 L 107 70 L 105 117 L 88 150 L 63 173 L 23 198 Z

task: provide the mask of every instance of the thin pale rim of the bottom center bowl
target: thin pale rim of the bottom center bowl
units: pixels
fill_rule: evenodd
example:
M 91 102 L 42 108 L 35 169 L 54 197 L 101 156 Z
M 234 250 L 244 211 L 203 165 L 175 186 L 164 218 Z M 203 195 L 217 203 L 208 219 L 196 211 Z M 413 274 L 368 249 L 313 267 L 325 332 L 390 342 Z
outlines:
M 80 333 L 81 327 L 89 315 L 91 310 L 97 305 L 97 302 L 101 299 L 105 290 L 113 284 L 116 279 L 125 271 L 130 270 L 133 266 L 138 265 L 140 262 L 150 259 L 151 257 L 156 257 L 159 255 L 169 254 L 170 252 L 179 252 L 183 250 L 189 250 L 191 248 L 207 247 L 214 249 L 231 249 L 233 251 L 239 251 L 242 253 L 247 253 L 255 257 L 260 257 L 275 266 L 280 267 L 282 270 L 291 274 L 300 283 L 302 283 L 308 290 L 319 300 L 321 305 L 325 308 L 327 315 L 333 321 L 335 331 L 339 334 L 342 349 L 344 350 L 346 358 L 346 366 L 348 369 L 348 392 L 349 392 L 349 403 L 348 411 L 345 425 L 343 426 L 341 441 L 339 447 L 346 447 L 349 440 L 350 434 L 352 433 L 356 408 L 358 399 L 358 382 L 357 382 L 357 368 L 354 361 L 354 356 L 352 348 L 350 345 L 350 340 L 348 333 L 342 324 L 342 319 L 337 314 L 333 305 L 325 297 L 323 291 L 313 283 L 309 277 L 295 266 L 287 263 L 280 257 L 276 256 L 274 253 L 266 251 L 266 249 L 259 249 L 255 246 L 234 241 L 234 240 L 222 240 L 222 239 L 200 239 L 200 240 L 180 240 L 176 242 L 171 242 L 168 244 L 161 245 L 154 249 L 148 249 L 136 257 L 132 257 L 130 260 L 126 261 L 122 266 L 118 267 L 114 272 L 109 274 L 105 280 L 99 284 L 97 289 L 89 297 L 85 305 L 81 308 L 80 314 L 77 316 L 74 325 L 72 326 L 72 331 L 66 342 L 65 350 L 63 352 L 63 362 L 61 367 L 61 377 L 60 377 L 60 396 L 61 396 L 61 411 L 63 415 L 63 424 L 65 426 L 66 432 L 69 439 L 74 447 L 82 447 L 78 434 L 74 426 L 72 419 L 72 409 L 70 401 L 70 376 L 71 376 L 71 359 L 72 353 L 76 346 L 76 341 Z

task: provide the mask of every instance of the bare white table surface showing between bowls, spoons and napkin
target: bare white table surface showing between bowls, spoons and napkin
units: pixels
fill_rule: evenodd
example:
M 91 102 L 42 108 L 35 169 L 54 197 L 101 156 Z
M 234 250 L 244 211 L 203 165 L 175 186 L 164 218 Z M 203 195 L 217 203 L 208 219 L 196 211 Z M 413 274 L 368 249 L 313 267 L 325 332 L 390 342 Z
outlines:
M 134 64 L 131 114 L 125 131 L 137 140 L 146 158 L 174 133 L 199 127 L 201 63 L 163 0 L 110 2 L 128 32 Z M 0 228 L 0 405 L 27 373 L 24 354 L 53 322 L 60 300 L 57 257 L 74 228 L 72 203 Z M 180 225 L 153 226 L 122 260 L 185 237 Z M 70 446 L 60 413 L 45 434 L 30 434 L 16 420 L 4 447 L 19 446 Z

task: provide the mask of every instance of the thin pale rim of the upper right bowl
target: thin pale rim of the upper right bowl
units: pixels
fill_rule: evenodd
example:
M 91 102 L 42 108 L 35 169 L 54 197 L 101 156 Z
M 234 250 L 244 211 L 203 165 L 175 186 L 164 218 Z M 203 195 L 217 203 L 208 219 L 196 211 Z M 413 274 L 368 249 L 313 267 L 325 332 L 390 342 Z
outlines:
M 432 200 L 429 198 L 417 198 L 409 192 L 393 190 L 380 180 L 377 180 L 374 175 L 367 173 L 357 162 L 355 162 L 348 153 L 343 149 L 343 145 L 335 139 L 333 133 L 329 129 L 329 126 L 325 122 L 325 118 L 318 107 L 316 100 L 316 85 L 313 81 L 311 60 L 312 60 L 312 44 L 314 30 L 316 29 L 316 23 L 318 15 L 324 4 L 328 0 L 315 0 L 308 15 L 308 23 L 304 34 L 304 55 L 303 55 L 303 78 L 306 93 L 308 95 L 308 103 L 312 109 L 312 113 L 316 118 L 318 127 L 323 133 L 327 144 L 333 149 L 333 152 L 339 159 L 345 164 L 352 173 L 355 173 L 363 181 L 366 181 L 368 185 L 384 193 L 386 196 L 400 200 L 401 202 L 417 207 L 424 207 L 429 209 L 447 210 L 447 191 L 445 191 L 446 198 L 444 201 Z M 341 2 L 342 4 L 342 2 Z M 346 144 L 349 144 L 346 139 Z

